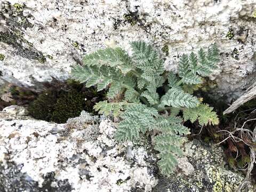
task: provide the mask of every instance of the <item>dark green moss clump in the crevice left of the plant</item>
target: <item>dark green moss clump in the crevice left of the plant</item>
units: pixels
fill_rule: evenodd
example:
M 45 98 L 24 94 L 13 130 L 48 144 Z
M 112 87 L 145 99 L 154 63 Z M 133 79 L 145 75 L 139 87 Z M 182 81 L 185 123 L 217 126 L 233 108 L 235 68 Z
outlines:
M 10 92 L 14 95 L 13 97 L 27 96 L 26 91 L 21 92 L 15 87 L 11 87 Z M 67 79 L 65 83 L 55 82 L 50 90 L 39 94 L 33 102 L 29 103 L 29 115 L 56 123 L 66 123 L 68 118 L 79 116 L 82 110 L 97 115 L 93 106 L 95 102 L 105 97 L 104 93 L 104 91 L 97 92 L 95 87 L 86 88 L 73 79 Z

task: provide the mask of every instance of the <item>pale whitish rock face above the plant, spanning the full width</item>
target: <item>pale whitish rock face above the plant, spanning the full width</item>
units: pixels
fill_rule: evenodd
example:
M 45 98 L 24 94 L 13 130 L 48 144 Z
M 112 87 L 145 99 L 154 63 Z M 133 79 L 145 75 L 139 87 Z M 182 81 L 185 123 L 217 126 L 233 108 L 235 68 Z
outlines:
M 180 54 L 217 42 L 218 97 L 241 95 L 255 81 L 255 0 L 9 0 L 0 9 L 2 84 L 66 79 L 83 54 L 114 42 L 129 51 L 140 39 L 159 47 L 174 71 Z

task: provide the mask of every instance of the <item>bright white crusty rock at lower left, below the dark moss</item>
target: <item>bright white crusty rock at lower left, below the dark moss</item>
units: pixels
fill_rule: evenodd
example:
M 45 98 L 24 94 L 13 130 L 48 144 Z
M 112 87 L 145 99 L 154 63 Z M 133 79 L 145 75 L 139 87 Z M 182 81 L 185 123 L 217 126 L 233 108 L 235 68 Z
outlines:
M 149 162 L 153 156 L 142 146 L 118 144 L 116 128 L 106 118 L 99 123 L 84 111 L 67 124 L 9 119 L 5 112 L 0 117 L 3 192 L 151 191 L 157 183 L 155 166 Z

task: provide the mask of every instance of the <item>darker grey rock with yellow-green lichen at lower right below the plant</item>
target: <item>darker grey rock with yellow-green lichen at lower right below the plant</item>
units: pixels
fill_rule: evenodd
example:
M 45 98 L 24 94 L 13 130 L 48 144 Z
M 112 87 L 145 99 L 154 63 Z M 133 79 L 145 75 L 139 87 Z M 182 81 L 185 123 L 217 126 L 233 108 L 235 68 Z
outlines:
M 180 171 L 167 179 L 159 177 L 153 192 L 238 191 L 244 176 L 227 169 L 220 147 L 194 140 L 186 143 L 184 154 L 185 157 L 179 159 Z M 253 192 L 255 189 L 250 185 L 241 191 Z

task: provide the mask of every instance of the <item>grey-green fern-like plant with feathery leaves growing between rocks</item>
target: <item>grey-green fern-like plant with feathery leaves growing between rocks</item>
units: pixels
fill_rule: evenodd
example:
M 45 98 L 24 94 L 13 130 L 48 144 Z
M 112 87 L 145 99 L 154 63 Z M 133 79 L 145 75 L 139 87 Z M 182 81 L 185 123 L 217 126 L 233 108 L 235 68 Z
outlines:
M 98 91 L 108 89 L 107 101 L 94 106 L 99 113 L 119 116 L 122 120 L 116 131 L 118 141 L 134 140 L 140 134 L 157 130 L 155 149 L 159 151 L 158 165 L 170 174 L 182 155 L 180 146 L 189 129 L 182 122 L 198 119 L 200 125 L 218 124 L 209 105 L 202 103 L 183 89 L 184 85 L 202 83 L 218 68 L 219 51 L 213 44 L 207 51 L 199 50 L 180 57 L 179 73 L 164 70 L 164 61 L 153 46 L 145 42 L 131 43 L 130 57 L 121 48 L 101 49 L 84 57 L 83 66 L 76 66 L 72 76 L 87 87 L 97 85 Z M 162 87 L 164 93 L 157 90 Z M 192 86 L 191 86 L 192 87 Z M 179 116 L 183 111 L 183 118 Z

